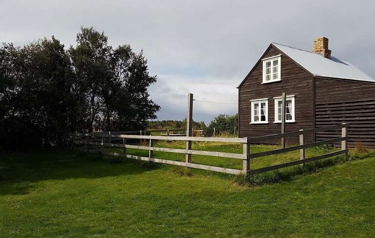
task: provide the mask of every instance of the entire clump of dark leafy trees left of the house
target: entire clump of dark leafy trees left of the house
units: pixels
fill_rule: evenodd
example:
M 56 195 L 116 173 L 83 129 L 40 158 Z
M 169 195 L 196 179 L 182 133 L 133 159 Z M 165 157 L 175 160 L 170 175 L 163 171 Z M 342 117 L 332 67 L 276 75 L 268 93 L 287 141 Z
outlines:
M 67 145 L 72 132 L 144 129 L 160 106 L 149 99 L 143 52 L 108 45 L 81 27 L 76 47 L 54 36 L 0 48 L 0 147 Z

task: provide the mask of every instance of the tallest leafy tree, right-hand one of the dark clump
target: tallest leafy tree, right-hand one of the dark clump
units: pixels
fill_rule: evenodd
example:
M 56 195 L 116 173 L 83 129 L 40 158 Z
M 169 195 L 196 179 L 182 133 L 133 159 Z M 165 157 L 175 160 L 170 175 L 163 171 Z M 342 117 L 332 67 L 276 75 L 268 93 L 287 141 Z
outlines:
M 160 106 L 147 91 L 156 76 L 149 75 L 143 51 L 134 53 L 130 45 L 113 50 L 104 32 L 81 27 L 69 53 L 90 108 L 88 132 L 144 129 L 148 119 L 156 118 Z

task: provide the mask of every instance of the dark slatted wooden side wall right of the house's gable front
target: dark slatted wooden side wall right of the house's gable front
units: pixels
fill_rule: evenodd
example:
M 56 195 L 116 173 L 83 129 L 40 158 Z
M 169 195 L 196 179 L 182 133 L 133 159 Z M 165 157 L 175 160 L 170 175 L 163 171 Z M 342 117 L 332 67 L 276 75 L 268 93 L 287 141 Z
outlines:
M 332 79 L 315 79 L 316 127 L 349 123 L 349 147 L 375 148 L 375 85 Z M 316 140 L 337 136 L 317 133 Z

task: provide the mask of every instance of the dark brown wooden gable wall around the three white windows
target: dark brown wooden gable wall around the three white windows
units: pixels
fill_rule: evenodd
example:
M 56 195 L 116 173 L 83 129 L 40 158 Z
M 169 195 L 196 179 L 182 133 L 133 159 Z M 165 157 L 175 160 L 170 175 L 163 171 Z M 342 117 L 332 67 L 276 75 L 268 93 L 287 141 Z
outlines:
M 271 46 L 263 55 L 268 58 L 281 54 L 281 81 L 262 84 L 262 61 L 260 61 L 239 87 L 239 136 L 254 137 L 281 133 L 281 123 L 274 123 L 274 97 L 295 95 L 294 123 L 286 123 L 285 132 L 311 129 L 313 125 L 313 76 L 289 59 L 281 51 Z M 250 100 L 268 98 L 268 123 L 250 124 Z M 312 141 L 312 136 L 306 136 L 306 142 Z M 275 141 L 266 141 L 274 143 Z M 279 141 L 277 141 L 279 142 Z M 299 143 L 299 137 L 286 138 L 287 143 Z

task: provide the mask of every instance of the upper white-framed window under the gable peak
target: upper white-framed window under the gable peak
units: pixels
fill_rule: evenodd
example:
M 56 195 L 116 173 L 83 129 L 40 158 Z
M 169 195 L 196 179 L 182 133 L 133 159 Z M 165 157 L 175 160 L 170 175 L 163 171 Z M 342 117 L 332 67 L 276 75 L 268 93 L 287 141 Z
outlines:
M 281 55 L 262 59 L 263 84 L 281 81 Z

